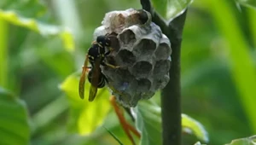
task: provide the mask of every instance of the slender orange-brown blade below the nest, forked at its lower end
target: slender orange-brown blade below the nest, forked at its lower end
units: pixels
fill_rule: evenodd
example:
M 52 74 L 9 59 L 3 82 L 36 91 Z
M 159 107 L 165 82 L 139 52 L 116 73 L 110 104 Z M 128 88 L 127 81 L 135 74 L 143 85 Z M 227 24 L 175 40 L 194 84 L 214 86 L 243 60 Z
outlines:
M 119 122 L 122 125 L 122 128 L 125 131 L 125 134 L 129 137 L 129 139 L 131 140 L 132 144 L 135 145 L 135 142 L 131 136 L 131 132 L 133 132 L 137 137 L 140 138 L 140 133 L 133 127 L 131 126 L 126 120 L 125 120 L 125 116 L 124 116 L 124 112 L 123 110 L 120 109 L 120 107 L 118 106 L 118 104 L 115 101 L 115 97 L 111 96 L 110 97 L 110 102 L 114 108 L 115 113 L 117 114 L 118 118 L 119 118 Z

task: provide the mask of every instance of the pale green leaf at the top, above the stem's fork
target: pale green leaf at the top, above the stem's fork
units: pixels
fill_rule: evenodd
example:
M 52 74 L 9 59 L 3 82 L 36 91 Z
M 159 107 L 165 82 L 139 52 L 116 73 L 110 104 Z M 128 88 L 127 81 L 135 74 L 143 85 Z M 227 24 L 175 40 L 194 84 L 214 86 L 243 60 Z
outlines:
M 183 14 L 193 0 L 153 0 L 154 9 L 169 23 Z

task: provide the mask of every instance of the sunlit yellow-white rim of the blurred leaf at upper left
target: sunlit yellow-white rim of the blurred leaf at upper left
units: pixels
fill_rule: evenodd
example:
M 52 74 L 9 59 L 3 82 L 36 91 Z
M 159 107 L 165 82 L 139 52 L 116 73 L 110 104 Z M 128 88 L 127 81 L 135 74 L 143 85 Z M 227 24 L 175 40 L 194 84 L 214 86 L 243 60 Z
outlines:
M 4 11 L 3 9 L 0 9 L 0 19 L 6 20 L 13 25 L 26 27 L 43 36 L 57 35 L 62 38 L 67 50 L 72 51 L 74 49 L 73 35 L 67 28 L 48 25 L 35 19 L 23 17 L 16 14 L 15 11 Z

